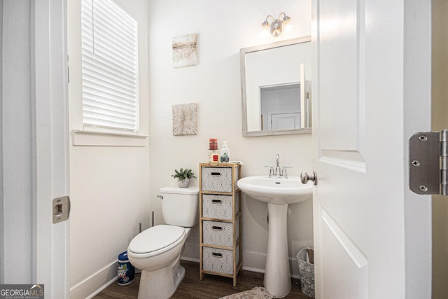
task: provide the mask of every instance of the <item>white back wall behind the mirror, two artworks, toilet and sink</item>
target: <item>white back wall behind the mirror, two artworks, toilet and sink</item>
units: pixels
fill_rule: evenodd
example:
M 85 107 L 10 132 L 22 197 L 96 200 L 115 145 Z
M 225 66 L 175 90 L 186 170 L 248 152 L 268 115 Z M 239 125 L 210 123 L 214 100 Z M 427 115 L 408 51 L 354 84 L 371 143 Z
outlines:
M 262 39 L 261 23 L 267 15 L 290 15 L 295 29 L 288 36 Z M 291 165 L 290 176 L 311 171 L 311 135 L 242 137 L 239 49 L 311 34 L 311 1 L 163 1 L 149 3 L 149 90 L 151 209 L 155 223 L 162 223 L 162 186 L 175 184 L 177 168 L 198 173 L 207 162 L 209 138 L 228 140 L 230 160 L 241 160 L 243 176 L 268 174 L 279 153 L 281 165 Z M 172 37 L 197 33 L 198 63 L 172 68 Z M 268 70 L 267 70 L 268 71 Z M 198 105 L 197 135 L 172 135 L 172 105 Z M 192 182 L 198 184 L 197 179 Z M 264 270 L 267 248 L 267 204 L 243 197 L 243 266 Z M 312 204 L 290 205 L 288 238 L 290 256 L 313 244 Z M 199 232 L 187 241 L 184 258 L 199 259 Z M 292 262 L 297 267 L 297 262 Z M 295 270 L 297 274 L 297 270 Z

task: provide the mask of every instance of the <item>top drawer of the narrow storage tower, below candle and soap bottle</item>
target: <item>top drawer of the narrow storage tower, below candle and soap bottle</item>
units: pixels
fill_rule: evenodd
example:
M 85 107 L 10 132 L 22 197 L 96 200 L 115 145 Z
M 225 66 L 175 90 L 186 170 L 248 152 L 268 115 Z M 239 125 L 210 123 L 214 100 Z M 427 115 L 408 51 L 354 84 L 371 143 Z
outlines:
M 238 178 L 232 178 L 232 167 L 202 167 L 202 191 L 232 192 Z M 238 176 L 238 175 L 236 175 Z

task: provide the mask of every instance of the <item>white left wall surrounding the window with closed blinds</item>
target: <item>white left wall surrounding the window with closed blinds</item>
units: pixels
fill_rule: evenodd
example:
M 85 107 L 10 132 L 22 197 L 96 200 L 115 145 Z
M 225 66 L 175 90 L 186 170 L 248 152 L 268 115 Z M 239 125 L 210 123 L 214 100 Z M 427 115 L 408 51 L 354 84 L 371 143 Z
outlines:
M 80 0 L 67 2 L 73 137 L 73 130 L 83 129 Z M 140 134 L 148 135 L 148 1 L 117 2 L 139 22 Z M 93 136 L 91 141 L 104 138 Z M 74 146 L 71 139 L 70 168 L 70 295 L 85 298 L 116 278 L 118 254 L 137 235 L 139 223 L 149 226 L 149 141 L 143 139 L 143 146 Z

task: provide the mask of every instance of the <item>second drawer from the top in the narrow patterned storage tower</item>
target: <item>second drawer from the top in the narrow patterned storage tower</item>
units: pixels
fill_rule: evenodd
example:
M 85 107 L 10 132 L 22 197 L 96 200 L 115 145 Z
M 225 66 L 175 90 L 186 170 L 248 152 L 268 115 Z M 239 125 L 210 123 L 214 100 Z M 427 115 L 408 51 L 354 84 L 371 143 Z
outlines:
M 239 212 L 239 193 L 235 195 L 235 215 Z M 202 217 L 215 219 L 233 219 L 232 195 L 202 195 Z

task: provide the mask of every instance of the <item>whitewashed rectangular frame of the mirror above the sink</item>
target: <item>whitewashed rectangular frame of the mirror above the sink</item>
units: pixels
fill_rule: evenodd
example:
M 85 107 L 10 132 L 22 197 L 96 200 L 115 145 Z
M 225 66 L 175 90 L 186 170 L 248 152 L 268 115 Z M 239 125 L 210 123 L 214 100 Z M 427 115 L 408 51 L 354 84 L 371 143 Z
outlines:
M 303 36 L 295 39 L 286 39 L 283 41 L 275 41 L 274 43 L 266 43 L 260 46 L 242 48 L 239 50 L 239 68 L 241 71 L 241 116 L 243 125 L 243 137 L 270 136 L 270 135 L 289 135 L 289 134 L 311 134 L 311 127 L 300 129 L 285 130 L 264 130 L 264 131 L 248 131 L 247 130 L 247 104 L 246 104 L 246 54 L 279 48 L 284 46 L 295 45 L 297 43 L 311 42 L 311 36 Z M 311 95 L 311 92 L 309 93 Z

